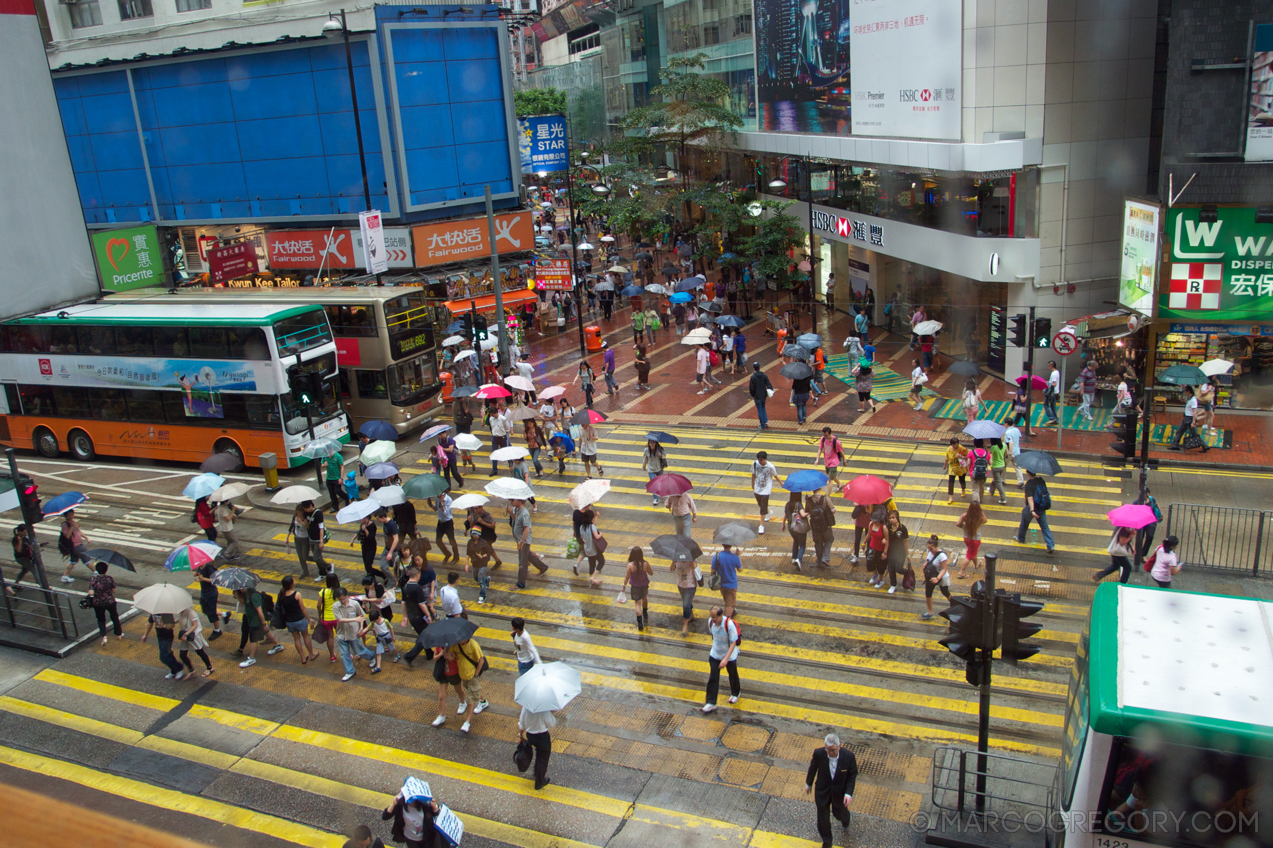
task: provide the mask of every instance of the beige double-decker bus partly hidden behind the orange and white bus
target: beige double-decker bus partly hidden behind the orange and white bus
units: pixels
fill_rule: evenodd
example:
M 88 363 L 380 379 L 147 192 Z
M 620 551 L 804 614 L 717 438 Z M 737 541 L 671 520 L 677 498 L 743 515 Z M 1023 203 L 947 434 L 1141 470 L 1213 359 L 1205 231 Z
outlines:
M 336 341 L 339 389 L 353 432 L 373 418 L 405 434 L 442 411 L 434 308 L 418 286 L 136 289 L 102 303 L 317 304 Z M 443 324 L 444 327 L 444 324 Z

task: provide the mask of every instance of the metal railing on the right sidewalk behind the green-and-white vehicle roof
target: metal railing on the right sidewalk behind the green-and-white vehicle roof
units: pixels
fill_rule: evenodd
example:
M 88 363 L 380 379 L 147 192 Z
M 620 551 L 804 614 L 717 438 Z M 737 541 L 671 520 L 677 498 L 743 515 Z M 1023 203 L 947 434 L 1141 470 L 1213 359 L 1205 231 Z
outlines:
M 1167 507 L 1164 537 L 1180 539 L 1176 556 L 1181 566 L 1242 571 L 1259 577 L 1273 572 L 1270 516 L 1273 512 L 1262 510 L 1172 503 Z

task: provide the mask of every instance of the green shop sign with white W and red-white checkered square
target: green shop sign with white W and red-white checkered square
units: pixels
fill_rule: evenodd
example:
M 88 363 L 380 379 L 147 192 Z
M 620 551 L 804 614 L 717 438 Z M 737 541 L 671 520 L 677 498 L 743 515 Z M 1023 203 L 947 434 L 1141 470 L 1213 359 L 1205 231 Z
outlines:
M 1254 207 L 1167 210 L 1171 267 L 1158 286 L 1158 317 L 1189 320 L 1273 319 L 1273 224 Z

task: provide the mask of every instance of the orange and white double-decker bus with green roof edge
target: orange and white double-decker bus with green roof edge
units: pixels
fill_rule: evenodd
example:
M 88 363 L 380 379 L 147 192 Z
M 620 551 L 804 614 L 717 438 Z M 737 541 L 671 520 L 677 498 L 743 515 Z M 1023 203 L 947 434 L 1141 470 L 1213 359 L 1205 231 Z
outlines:
M 323 375 L 302 407 L 288 370 Z M 318 305 L 81 304 L 0 324 L 0 444 L 45 456 L 201 462 L 232 453 L 258 467 L 308 460 L 309 439 L 349 441 L 336 343 Z M 312 426 L 312 434 L 311 434 Z

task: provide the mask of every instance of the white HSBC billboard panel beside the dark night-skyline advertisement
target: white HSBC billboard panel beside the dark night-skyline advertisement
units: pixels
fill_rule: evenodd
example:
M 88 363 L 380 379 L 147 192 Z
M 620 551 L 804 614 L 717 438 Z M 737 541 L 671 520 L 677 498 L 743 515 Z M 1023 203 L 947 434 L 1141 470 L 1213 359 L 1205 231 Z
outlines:
M 853 135 L 962 136 L 962 3 L 855 3 L 849 20 Z

